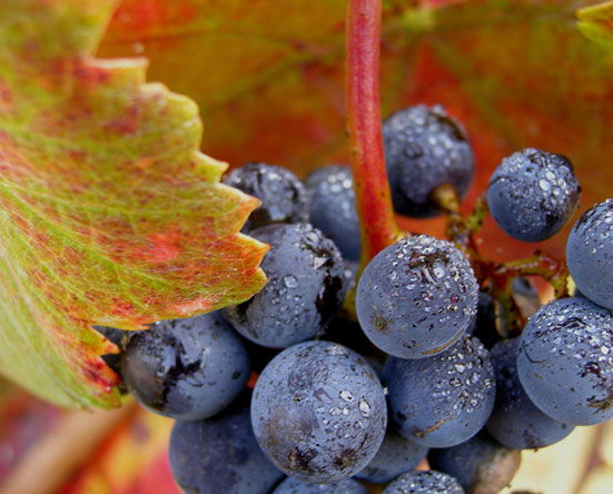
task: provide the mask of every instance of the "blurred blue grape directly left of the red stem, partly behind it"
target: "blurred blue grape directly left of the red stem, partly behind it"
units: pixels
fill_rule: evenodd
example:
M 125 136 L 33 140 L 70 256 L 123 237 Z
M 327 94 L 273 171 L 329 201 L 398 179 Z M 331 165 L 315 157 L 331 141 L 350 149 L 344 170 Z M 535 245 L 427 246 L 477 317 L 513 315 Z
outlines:
M 320 168 L 305 184 L 309 223 L 334 240 L 343 257 L 359 259 L 359 219 L 350 168 Z

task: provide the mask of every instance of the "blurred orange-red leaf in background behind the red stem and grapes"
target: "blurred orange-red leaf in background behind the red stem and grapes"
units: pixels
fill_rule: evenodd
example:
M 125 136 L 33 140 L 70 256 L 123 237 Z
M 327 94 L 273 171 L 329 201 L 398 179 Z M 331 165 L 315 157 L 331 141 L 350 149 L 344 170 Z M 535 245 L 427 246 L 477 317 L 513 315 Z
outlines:
M 576 28 L 574 0 L 387 0 L 382 113 L 441 102 L 477 156 L 471 207 L 502 157 L 527 146 L 568 156 L 582 208 L 613 182 L 613 60 Z M 98 53 L 142 55 L 150 73 L 194 98 L 204 149 L 231 164 L 267 160 L 300 175 L 348 162 L 345 0 L 123 0 Z M 215 70 L 210 70 L 214 67 Z M 403 221 L 442 235 L 441 219 Z M 565 230 L 567 231 L 567 230 Z M 501 258 L 535 246 L 487 220 L 483 248 Z M 565 234 L 544 247 L 563 254 Z

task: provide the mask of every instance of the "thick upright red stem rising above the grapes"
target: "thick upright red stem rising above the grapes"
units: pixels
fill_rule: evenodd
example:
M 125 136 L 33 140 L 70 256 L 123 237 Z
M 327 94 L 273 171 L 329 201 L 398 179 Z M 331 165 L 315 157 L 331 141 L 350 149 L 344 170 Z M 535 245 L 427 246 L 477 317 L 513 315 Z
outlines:
M 380 0 L 347 1 L 347 132 L 360 219 L 362 267 L 396 241 L 379 110 Z

